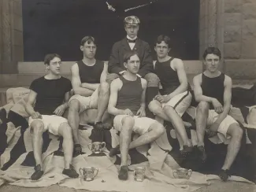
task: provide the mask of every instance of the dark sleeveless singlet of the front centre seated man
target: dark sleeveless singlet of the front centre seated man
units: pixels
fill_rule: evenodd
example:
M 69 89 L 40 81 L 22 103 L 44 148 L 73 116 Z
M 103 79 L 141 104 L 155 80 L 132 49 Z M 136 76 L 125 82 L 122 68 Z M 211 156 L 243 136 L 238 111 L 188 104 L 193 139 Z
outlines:
M 130 109 L 134 115 L 138 112 L 141 104 L 141 96 L 143 94 L 143 87 L 141 79 L 137 77 L 135 81 L 124 79 L 123 76 L 119 77 L 123 82 L 121 90 L 117 96 L 117 109 Z

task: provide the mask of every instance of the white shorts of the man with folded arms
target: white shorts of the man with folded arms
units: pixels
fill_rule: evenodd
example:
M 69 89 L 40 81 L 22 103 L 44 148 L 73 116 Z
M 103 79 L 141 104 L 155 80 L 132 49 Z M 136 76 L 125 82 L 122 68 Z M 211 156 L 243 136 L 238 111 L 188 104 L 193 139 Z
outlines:
M 77 99 L 80 102 L 80 113 L 87 109 L 97 109 L 98 108 L 98 89 L 95 90 L 89 97 L 83 97 L 80 94 L 75 94 L 69 99 L 70 102 L 73 99 Z

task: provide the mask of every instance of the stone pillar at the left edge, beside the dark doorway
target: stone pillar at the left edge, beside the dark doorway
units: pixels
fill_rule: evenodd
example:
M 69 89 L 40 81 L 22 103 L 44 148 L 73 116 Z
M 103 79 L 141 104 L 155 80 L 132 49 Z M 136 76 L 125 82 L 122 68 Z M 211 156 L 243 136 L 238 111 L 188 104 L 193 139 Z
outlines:
M 17 73 L 23 54 L 22 2 L 0 0 L 0 73 Z

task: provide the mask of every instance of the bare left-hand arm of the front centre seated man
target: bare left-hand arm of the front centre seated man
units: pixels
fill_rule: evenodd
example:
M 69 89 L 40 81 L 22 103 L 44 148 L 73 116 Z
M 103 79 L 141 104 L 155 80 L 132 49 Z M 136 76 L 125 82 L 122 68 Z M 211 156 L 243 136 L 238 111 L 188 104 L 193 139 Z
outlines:
M 109 97 L 109 105 L 108 105 L 108 113 L 117 116 L 117 115 L 124 115 L 124 110 L 117 109 L 117 95 L 118 91 L 121 87 L 121 80 L 114 79 L 113 82 L 110 84 L 110 97 Z

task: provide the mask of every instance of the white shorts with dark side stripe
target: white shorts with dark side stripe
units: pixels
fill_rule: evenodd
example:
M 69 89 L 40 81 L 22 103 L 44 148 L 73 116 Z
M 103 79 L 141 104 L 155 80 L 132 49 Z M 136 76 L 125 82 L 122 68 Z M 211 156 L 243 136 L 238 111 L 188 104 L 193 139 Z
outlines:
M 166 105 L 173 107 L 178 113 L 179 116 L 183 116 L 187 108 L 191 105 L 192 94 L 190 91 L 186 90 L 181 94 L 175 95 L 169 100 L 161 104 L 161 107 L 164 108 Z

